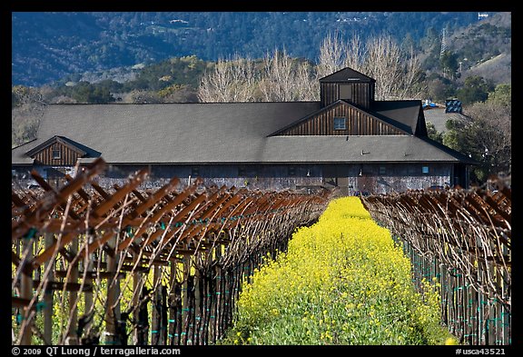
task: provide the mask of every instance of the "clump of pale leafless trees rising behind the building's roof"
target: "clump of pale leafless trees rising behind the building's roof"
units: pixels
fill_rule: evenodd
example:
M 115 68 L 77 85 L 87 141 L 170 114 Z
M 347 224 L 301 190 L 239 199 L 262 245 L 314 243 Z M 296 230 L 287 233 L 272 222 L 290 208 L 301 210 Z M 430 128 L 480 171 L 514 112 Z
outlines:
M 376 99 L 410 99 L 419 96 L 419 59 L 411 51 L 404 55 L 390 35 L 370 38 L 365 45 L 353 35 L 343 42 L 338 33 L 328 35 L 321 45 L 315 67 L 291 58 L 283 49 L 267 53 L 262 71 L 239 55 L 220 60 L 214 71 L 202 77 L 201 102 L 265 102 L 318 100 L 319 79 L 348 66 L 376 79 Z

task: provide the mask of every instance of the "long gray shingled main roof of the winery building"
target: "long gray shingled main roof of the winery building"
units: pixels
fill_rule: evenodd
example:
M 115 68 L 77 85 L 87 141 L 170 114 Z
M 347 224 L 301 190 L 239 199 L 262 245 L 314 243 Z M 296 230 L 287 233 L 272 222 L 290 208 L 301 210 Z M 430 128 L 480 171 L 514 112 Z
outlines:
M 52 104 L 38 138 L 12 150 L 13 164 L 60 135 L 111 164 L 458 162 L 411 135 L 271 136 L 320 109 L 318 102 Z M 361 154 L 361 153 L 364 154 Z M 406 154 L 406 155 L 405 155 Z

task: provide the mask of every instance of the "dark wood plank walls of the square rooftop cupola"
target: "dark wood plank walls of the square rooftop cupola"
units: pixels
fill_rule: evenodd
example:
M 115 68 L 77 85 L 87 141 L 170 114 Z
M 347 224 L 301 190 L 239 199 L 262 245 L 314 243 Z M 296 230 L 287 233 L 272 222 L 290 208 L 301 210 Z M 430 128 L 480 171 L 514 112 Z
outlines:
M 368 82 L 321 83 L 321 107 L 339 99 L 369 109 L 374 101 L 374 84 Z

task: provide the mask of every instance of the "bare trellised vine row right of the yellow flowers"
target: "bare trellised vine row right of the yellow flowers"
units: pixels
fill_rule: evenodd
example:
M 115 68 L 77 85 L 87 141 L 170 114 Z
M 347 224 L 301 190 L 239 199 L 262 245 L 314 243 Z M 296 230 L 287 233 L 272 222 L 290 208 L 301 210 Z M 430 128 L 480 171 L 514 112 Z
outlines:
M 511 344 L 511 189 L 409 191 L 363 197 L 410 256 L 413 283 L 440 284 L 441 322 L 462 343 Z

